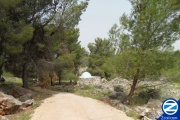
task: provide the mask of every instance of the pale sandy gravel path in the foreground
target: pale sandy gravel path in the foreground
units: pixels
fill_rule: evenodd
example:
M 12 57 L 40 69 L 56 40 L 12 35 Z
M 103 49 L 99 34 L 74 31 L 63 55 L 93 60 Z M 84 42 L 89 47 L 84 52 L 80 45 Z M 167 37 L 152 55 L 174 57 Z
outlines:
M 133 120 L 101 101 L 71 93 L 58 93 L 36 108 L 31 120 Z

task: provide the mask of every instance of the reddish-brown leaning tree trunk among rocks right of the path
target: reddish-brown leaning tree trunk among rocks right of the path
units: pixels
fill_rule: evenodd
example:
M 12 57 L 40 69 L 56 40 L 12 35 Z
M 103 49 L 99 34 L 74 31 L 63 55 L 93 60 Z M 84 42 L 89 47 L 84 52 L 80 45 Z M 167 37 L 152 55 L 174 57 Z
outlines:
M 139 75 L 140 75 L 140 69 L 137 69 L 136 74 L 134 75 L 133 84 L 131 85 L 131 90 L 130 90 L 128 96 L 123 101 L 124 104 L 129 104 L 131 98 L 133 97 L 134 92 L 136 90 L 136 85 L 137 85 L 137 82 L 139 79 Z

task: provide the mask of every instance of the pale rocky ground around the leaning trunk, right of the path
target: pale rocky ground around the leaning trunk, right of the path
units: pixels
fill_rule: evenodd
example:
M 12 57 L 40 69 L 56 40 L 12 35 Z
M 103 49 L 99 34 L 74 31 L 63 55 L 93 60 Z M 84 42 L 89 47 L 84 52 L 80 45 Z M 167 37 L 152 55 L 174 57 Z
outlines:
M 178 100 L 180 98 L 179 85 L 163 80 L 142 81 L 138 83 L 136 95 L 145 97 L 144 101 L 146 100 L 146 102 L 144 103 L 144 101 L 142 101 L 143 103 L 139 103 L 139 105 L 134 104 L 133 107 L 127 106 L 122 104 L 121 101 L 128 94 L 131 83 L 132 81 L 126 79 L 115 78 L 111 81 L 104 81 L 95 85 L 93 93 L 96 94 L 98 92 L 109 91 L 109 95 L 106 97 L 109 99 L 108 102 L 111 105 L 123 110 L 127 114 L 130 112 L 135 113 L 142 120 L 154 120 L 158 118 L 162 114 L 161 105 L 163 100 L 167 98 L 175 98 Z M 79 87 L 83 88 L 83 86 Z

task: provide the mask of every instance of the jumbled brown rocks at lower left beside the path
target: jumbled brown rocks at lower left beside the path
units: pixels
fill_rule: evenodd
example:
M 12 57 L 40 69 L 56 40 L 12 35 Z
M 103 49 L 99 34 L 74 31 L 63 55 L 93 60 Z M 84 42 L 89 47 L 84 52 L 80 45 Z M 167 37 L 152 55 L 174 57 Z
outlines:
M 0 91 L 0 120 L 6 120 L 4 115 L 15 114 L 24 111 L 34 104 L 33 93 L 20 86 L 13 89 L 12 95 Z

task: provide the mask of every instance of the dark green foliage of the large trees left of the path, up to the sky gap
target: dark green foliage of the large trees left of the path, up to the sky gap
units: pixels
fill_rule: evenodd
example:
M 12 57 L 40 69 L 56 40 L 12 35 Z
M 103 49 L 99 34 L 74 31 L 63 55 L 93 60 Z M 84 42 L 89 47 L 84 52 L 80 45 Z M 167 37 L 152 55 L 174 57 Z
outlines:
M 66 48 L 75 57 L 72 61 L 77 68 L 84 49 L 75 27 L 87 5 L 78 0 L 0 0 L 0 71 L 4 66 L 27 81 L 28 71 L 38 71 L 38 60 L 52 62 Z

